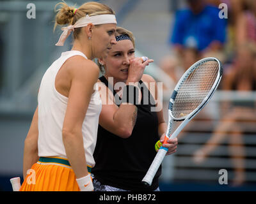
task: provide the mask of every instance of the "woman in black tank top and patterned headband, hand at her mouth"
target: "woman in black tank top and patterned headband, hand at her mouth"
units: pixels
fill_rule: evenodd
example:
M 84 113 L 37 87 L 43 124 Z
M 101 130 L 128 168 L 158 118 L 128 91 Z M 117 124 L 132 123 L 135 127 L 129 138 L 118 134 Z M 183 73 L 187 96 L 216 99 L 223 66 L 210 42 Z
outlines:
M 98 81 L 102 111 L 93 154 L 93 185 L 95 191 L 159 191 L 161 168 L 152 186 L 141 184 L 156 156 L 155 143 L 159 138 L 163 140 L 166 131 L 163 110 L 154 111 L 161 107 L 156 99 L 157 83 L 143 75 L 145 66 L 153 60 L 143 62 L 134 56 L 134 36 L 130 31 L 117 27 L 116 32 L 116 45 L 99 59 L 104 75 Z M 128 85 L 129 82 L 137 84 Z M 131 89 L 139 92 L 134 100 L 127 95 Z M 164 147 L 168 147 L 168 154 L 175 152 L 177 138 Z

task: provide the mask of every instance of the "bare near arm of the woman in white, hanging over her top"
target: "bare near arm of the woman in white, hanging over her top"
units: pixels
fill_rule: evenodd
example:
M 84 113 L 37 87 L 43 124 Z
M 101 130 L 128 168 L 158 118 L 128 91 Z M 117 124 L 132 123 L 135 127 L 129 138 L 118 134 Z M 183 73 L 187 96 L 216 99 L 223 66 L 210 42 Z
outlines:
M 71 86 L 68 92 L 68 105 L 62 129 L 67 158 L 77 179 L 88 178 L 82 125 L 93 93 L 93 85 L 99 77 L 97 65 L 81 58 L 79 56 L 74 57 L 73 60 L 70 59 L 72 61 L 69 63 L 68 70 L 71 76 Z M 81 186 L 79 187 L 81 189 Z

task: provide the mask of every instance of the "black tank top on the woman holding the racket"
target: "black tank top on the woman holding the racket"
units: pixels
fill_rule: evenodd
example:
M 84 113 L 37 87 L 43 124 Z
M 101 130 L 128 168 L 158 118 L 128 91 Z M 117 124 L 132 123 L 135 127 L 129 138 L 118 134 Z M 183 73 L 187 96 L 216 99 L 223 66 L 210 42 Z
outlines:
M 99 79 L 108 87 L 108 80 L 104 76 Z M 150 187 L 143 186 L 141 180 L 156 156 L 155 143 L 159 140 L 158 119 L 157 113 L 150 111 L 156 104 L 150 103 L 152 95 L 147 86 L 142 81 L 139 84 L 142 98 L 141 105 L 137 106 L 137 119 L 132 135 L 124 139 L 99 125 L 92 173 L 103 185 L 128 191 L 154 191 L 159 186 L 161 167 Z M 115 90 L 113 94 L 115 96 Z M 143 104 L 145 97 L 148 98 L 149 105 Z

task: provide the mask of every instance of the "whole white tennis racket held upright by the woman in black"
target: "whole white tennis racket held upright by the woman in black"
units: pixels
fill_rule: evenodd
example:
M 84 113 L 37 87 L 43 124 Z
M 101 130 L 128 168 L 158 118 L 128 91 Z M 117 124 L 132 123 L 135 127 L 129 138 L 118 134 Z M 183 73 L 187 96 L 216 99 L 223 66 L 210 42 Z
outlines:
M 176 138 L 180 131 L 204 108 L 216 91 L 222 77 L 221 62 L 207 57 L 195 62 L 180 78 L 168 106 L 168 128 L 164 142 Z M 183 121 L 171 134 L 173 121 Z M 142 182 L 150 186 L 168 148 L 160 147 Z

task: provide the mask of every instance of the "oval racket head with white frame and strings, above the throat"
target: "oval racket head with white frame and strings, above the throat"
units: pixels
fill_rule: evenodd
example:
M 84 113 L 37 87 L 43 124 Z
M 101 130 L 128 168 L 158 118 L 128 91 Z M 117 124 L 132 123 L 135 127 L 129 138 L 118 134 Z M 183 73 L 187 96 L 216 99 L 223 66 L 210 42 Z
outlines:
M 216 91 L 222 72 L 221 62 L 215 57 L 201 59 L 188 68 L 170 98 L 169 118 L 182 121 L 195 117 Z

